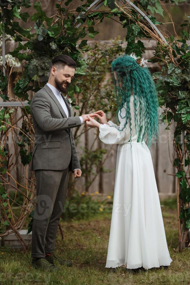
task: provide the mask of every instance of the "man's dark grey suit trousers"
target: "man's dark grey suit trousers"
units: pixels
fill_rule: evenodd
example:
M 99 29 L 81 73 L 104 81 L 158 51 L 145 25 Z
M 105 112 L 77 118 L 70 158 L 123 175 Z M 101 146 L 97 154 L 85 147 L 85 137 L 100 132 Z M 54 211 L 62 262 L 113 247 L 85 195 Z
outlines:
M 63 170 L 35 170 L 36 206 L 32 225 L 31 257 L 45 257 L 55 250 L 58 223 L 63 212 L 69 181 L 69 167 Z

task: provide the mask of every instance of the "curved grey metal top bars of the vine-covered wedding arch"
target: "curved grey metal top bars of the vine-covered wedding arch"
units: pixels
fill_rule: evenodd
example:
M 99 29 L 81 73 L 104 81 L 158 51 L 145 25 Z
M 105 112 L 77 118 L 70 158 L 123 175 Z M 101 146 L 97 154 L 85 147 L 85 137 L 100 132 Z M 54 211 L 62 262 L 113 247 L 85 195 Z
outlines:
M 86 11 L 88 11 L 90 8 L 92 8 L 94 5 L 96 5 L 99 2 L 99 0 L 94 1 L 88 8 Z M 104 0 L 101 0 L 101 3 L 99 3 L 94 10 L 100 8 L 103 5 Z M 158 33 L 158 35 L 160 36 L 160 38 L 165 42 L 165 44 L 168 46 L 168 43 L 166 41 L 166 39 L 164 38 L 164 36 L 162 35 L 162 33 L 160 33 L 160 31 L 158 30 L 158 28 L 155 26 L 155 24 L 153 24 L 153 22 L 135 5 L 133 4 L 130 0 L 119 0 L 119 2 L 123 3 L 124 5 L 126 5 L 126 3 L 128 3 L 128 5 L 132 6 L 139 14 L 141 14 L 143 16 L 144 19 L 146 19 L 146 21 L 153 27 L 153 29 Z M 83 12 L 82 14 L 85 14 L 85 12 Z M 80 18 L 80 16 L 78 17 Z M 77 19 L 78 19 L 77 18 Z M 80 27 L 81 23 L 79 23 L 76 27 Z

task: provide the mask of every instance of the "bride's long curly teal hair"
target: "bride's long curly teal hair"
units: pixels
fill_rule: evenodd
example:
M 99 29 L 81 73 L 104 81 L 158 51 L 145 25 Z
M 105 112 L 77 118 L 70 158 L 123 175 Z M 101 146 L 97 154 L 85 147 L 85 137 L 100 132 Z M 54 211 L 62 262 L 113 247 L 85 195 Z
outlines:
M 147 146 L 150 148 L 152 139 L 155 139 L 155 141 L 158 139 L 159 104 L 155 83 L 148 67 L 141 67 L 136 62 L 135 58 L 129 55 L 124 55 L 113 60 L 111 68 L 114 81 L 114 92 L 117 95 L 117 117 L 118 114 L 121 115 L 121 109 L 126 103 L 126 122 L 123 129 L 126 127 L 129 120 L 131 140 L 131 115 L 129 102 L 132 89 L 134 96 L 136 134 L 141 131 L 142 125 L 144 124 Z M 114 77 L 114 72 L 116 73 L 117 80 Z M 120 86 L 120 83 L 122 83 L 122 87 Z M 138 112 L 139 120 L 137 117 Z M 140 139 L 140 142 L 142 144 L 142 139 Z

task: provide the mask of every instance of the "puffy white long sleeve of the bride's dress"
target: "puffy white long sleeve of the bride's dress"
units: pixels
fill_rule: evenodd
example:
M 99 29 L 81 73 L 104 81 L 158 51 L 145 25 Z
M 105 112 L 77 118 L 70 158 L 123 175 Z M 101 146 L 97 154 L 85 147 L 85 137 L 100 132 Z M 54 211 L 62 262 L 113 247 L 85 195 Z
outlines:
M 135 113 L 134 113 L 134 104 L 133 104 L 133 96 L 130 98 L 130 113 L 131 113 L 131 138 L 135 139 L 137 137 L 135 133 Z M 126 105 L 125 105 L 126 106 Z M 101 124 L 99 126 L 99 138 L 100 140 L 108 145 L 112 144 L 123 144 L 130 140 L 130 124 L 129 121 L 126 124 L 126 127 L 123 129 L 124 124 L 126 122 L 126 108 L 122 108 L 121 116 L 119 116 L 120 125 L 117 126 L 116 124 L 109 121 L 110 124 Z M 122 119 L 122 117 L 124 117 Z M 123 130 L 122 130 L 123 129 Z

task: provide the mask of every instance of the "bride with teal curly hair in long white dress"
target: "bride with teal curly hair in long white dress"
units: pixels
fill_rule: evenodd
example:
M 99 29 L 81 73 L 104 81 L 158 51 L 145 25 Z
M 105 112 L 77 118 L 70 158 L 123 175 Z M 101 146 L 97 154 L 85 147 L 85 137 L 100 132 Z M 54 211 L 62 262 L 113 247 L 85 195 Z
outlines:
M 112 64 L 119 125 L 103 111 L 88 117 L 105 144 L 117 144 L 116 177 L 110 237 L 105 267 L 126 270 L 169 266 L 169 254 L 157 184 L 150 154 L 158 138 L 158 99 L 148 67 L 135 56 L 120 56 Z M 146 136 L 146 143 L 145 143 Z M 128 268 L 128 269 L 127 269 Z

